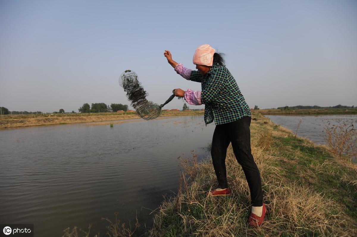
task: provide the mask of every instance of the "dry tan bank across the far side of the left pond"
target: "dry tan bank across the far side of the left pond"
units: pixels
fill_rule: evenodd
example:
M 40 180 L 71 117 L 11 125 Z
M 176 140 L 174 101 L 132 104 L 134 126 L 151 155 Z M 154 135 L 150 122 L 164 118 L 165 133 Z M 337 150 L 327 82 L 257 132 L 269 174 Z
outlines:
M 163 111 L 164 116 L 196 116 L 203 115 L 203 111 Z M 123 119 L 140 118 L 136 112 L 124 113 L 74 113 L 74 114 L 27 114 L 27 115 L 1 115 L 0 128 L 28 127 L 39 125 L 101 122 Z

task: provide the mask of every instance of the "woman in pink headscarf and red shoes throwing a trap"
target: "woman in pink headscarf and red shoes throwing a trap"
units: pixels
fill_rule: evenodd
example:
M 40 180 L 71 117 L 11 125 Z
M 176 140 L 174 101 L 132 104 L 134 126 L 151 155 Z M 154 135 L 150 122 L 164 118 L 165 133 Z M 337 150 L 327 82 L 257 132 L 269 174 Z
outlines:
M 165 50 L 164 56 L 183 78 L 200 82 L 202 86 L 202 91 L 175 89 L 175 95 L 184 97 L 189 104 L 205 104 L 205 123 L 215 121 L 211 155 L 218 188 L 212 190 L 211 195 L 225 196 L 231 193 L 227 184 L 225 160 L 228 145 L 232 143 L 250 189 L 252 212 L 248 223 L 254 227 L 261 225 L 266 208 L 263 204 L 260 173 L 250 148 L 251 113 L 235 79 L 224 65 L 222 54 L 215 53 L 210 45 L 199 46 L 193 55 L 193 64 L 198 71 L 187 69 L 172 60 L 168 50 Z

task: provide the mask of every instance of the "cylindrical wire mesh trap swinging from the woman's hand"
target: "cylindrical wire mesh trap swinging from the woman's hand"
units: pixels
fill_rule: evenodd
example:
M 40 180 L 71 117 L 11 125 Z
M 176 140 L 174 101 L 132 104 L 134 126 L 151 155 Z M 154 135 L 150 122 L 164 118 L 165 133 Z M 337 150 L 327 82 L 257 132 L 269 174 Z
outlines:
M 165 104 L 172 101 L 175 97 L 172 94 L 164 104 L 158 105 L 152 101 L 148 101 L 146 97 L 148 93 L 142 88 L 141 83 L 138 80 L 138 76 L 134 71 L 125 70 L 119 78 L 119 84 L 126 92 L 126 97 L 131 102 L 131 106 L 134 107 L 139 116 L 145 120 L 155 119 L 161 114 L 161 108 Z

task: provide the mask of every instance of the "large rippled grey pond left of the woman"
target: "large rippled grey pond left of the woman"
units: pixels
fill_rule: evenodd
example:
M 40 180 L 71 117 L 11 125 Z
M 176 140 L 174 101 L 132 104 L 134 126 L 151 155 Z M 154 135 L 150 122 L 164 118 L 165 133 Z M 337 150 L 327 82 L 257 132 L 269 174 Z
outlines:
M 1 129 L 0 223 L 33 223 L 37 237 L 93 223 L 90 236 L 105 236 L 101 217 L 119 212 L 150 227 L 177 191 L 178 156 L 206 157 L 214 129 L 202 116 Z

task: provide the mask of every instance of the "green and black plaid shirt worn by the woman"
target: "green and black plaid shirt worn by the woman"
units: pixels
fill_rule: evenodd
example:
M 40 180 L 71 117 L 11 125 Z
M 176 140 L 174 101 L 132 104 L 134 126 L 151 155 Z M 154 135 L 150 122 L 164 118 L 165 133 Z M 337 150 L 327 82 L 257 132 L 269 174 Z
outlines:
M 228 69 L 218 64 L 213 64 L 207 74 L 192 71 L 190 80 L 201 82 L 201 100 L 205 104 L 206 125 L 215 120 L 215 124 L 233 122 L 244 116 L 251 117 L 251 112 L 246 103 L 236 80 Z

